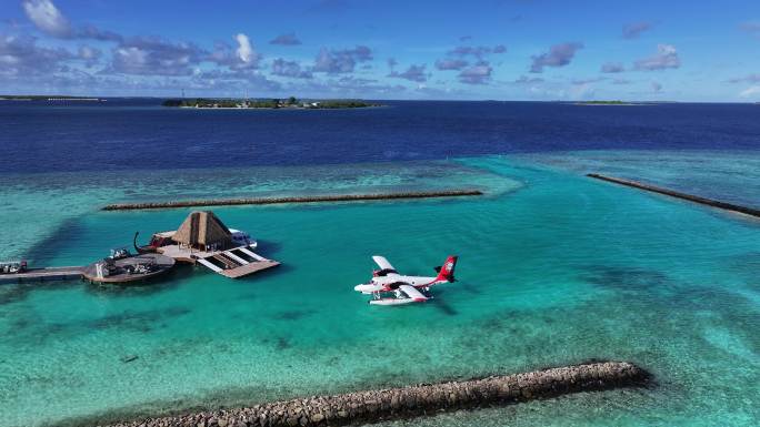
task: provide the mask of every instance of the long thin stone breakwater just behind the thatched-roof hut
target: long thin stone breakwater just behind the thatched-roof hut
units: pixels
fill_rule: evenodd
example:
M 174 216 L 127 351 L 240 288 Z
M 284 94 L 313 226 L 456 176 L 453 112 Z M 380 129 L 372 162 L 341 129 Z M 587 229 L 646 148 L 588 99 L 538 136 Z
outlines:
M 461 197 L 483 195 L 479 190 L 442 190 L 407 193 L 380 193 L 380 194 L 334 194 L 290 197 L 253 197 L 253 199 L 216 199 L 216 200 L 189 200 L 176 202 L 151 203 L 117 203 L 104 206 L 103 211 L 130 211 L 146 209 L 173 209 L 197 206 L 233 206 L 252 204 L 283 204 L 283 203 L 319 203 L 319 202 L 359 202 L 398 199 L 432 199 L 432 197 Z

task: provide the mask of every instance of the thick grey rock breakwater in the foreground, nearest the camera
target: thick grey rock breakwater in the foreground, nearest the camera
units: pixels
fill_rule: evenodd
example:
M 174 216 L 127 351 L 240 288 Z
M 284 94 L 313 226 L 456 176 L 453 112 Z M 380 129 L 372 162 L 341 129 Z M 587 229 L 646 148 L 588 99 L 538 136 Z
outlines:
M 346 426 L 551 398 L 570 393 L 644 385 L 650 375 L 626 362 L 600 362 L 527 374 L 313 396 L 114 424 L 112 427 Z

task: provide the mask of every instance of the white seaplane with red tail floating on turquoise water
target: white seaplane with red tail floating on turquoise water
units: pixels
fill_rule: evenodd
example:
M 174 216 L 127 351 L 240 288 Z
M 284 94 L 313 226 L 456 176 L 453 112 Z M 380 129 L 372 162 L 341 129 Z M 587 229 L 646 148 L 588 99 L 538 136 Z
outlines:
M 364 295 L 372 295 L 372 305 L 404 305 L 423 303 L 431 299 L 430 288 L 441 283 L 454 282 L 457 256 L 449 256 L 446 263 L 436 267 L 438 276 L 404 276 L 399 274 L 384 256 L 374 255 L 372 260 L 380 267 L 372 272 L 372 278 L 353 287 Z

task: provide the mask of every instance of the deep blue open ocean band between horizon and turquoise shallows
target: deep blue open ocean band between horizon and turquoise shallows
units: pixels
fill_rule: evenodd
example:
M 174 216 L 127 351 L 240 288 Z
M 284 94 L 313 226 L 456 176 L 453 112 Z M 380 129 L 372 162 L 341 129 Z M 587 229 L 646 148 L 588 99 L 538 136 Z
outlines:
M 742 150 L 760 105 L 386 101 L 237 111 L 0 101 L 0 173 L 308 165 L 570 150 Z

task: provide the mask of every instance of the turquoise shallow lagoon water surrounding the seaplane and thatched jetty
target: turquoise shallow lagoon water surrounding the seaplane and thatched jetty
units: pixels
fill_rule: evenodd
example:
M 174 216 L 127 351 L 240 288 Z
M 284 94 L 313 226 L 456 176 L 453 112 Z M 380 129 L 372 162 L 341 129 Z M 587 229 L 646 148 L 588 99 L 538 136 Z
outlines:
M 710 181 L 678 153 L 656 154 L 680 165 L 679 176 L 732 191 L 732 181 Z M 751 170 L 756 159 L 689 155 L 711 159 L 710 170 Z M 188 267 L 127 289 L 0 286 L 0 424 L 91 423 L 598 357 L 639 363 L 658 386 L 388 425 L 757 425 L 760 224 L 579 173 L 624 166 L 668 184 L 661 162 L 606 156 L 251 169 L 248 186 L 229 172 L 217 171 L 227 180 L 207 171 L 191 181 L 174 171 L 169 192 L 181 196 L 462 185 L 488 195 L 217 209 L 284 263 L 242 281 Z M 270 184 L 256 185 L 257 174 Z M 166 190 L 154 176 L 70 177 L 77 191 L 40 181 L 8 190 L 32 197 L 0 213 L 42 236 L 27 245 L 37 262 L 88 262 L 129 243 L 136 230 L 172 228 L 188 213 L 92 209 L 159 199 Z M 758 200 L 742 189 L 739 197 Z M 370 307 L 351 291 L 371 272 L 372 254 L 424 274 L 450 253 L 461 257 L 460 282 L 438 288 L 430 304 Z M 128 355 L 139 358 L 122 363 Z

